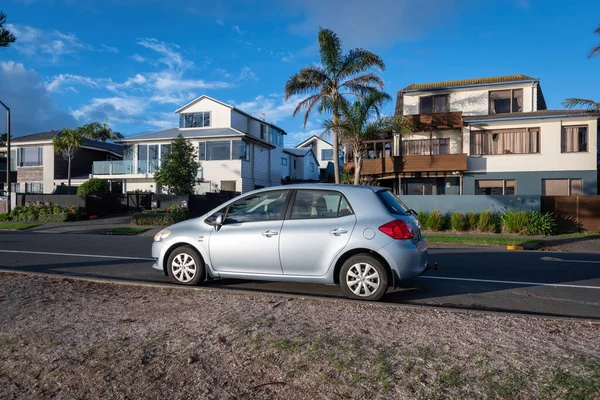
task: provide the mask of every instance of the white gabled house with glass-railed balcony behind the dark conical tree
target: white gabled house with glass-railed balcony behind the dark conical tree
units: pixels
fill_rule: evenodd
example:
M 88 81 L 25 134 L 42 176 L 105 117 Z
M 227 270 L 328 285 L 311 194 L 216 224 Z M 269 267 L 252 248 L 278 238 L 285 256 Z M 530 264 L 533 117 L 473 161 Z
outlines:
M 197 193 L 247 192 L 281 184 L 283 129 L 205 95 L 175 112 L 178 128 L 122 139 L 123 161 L 96 162 L 93 176 L 121 181 L 124 192 L 161 193 L 154 173 L 181 133 L 196 148 L 201 164 Z

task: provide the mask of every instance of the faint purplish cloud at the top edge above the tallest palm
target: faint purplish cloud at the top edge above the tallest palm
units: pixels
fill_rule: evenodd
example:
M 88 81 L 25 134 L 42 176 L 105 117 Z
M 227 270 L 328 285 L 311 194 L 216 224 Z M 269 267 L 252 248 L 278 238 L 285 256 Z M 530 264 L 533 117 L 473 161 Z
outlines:
M 293 33 L 315 36 L 319 27 L 335 31 L 345 46 L 389 46 L 414 39 L 442 18 L 453 17 L 456 0 L 292 0 L 288 6 L 304 20 Z M 365 23 L 376 21 L 376 23 Z M 316 38 L 315 38 L 316 39 Z

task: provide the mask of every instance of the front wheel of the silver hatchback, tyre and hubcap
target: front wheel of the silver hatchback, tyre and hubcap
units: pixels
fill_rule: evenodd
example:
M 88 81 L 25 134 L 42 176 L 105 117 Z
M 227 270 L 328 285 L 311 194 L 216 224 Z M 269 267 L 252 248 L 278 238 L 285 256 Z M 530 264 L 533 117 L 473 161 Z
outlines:
M 172 282 L 195 286 L 204 281 L 204 261 L 193 247 L 180 246 L 169 256 L 167 272 Z

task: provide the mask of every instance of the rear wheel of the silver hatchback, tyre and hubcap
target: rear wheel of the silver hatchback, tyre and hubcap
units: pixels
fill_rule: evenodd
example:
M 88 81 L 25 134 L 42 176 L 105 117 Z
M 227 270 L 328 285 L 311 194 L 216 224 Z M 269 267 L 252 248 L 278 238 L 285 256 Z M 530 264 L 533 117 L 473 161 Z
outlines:
M 385 267 L 368 254 L 357 254 L 347 259 L 339 278 L 342 291 L 351 299 L 377 301 L 388 288 Z

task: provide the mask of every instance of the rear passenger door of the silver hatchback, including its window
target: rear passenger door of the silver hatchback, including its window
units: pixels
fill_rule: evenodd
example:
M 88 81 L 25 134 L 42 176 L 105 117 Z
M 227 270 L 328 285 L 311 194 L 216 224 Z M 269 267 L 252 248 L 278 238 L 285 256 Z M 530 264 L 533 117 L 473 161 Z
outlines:
M 298 190 L 283 222 L 279 253 L 284 275 L 321 276 L 348 244 L 356 216 L 332 190 Z

